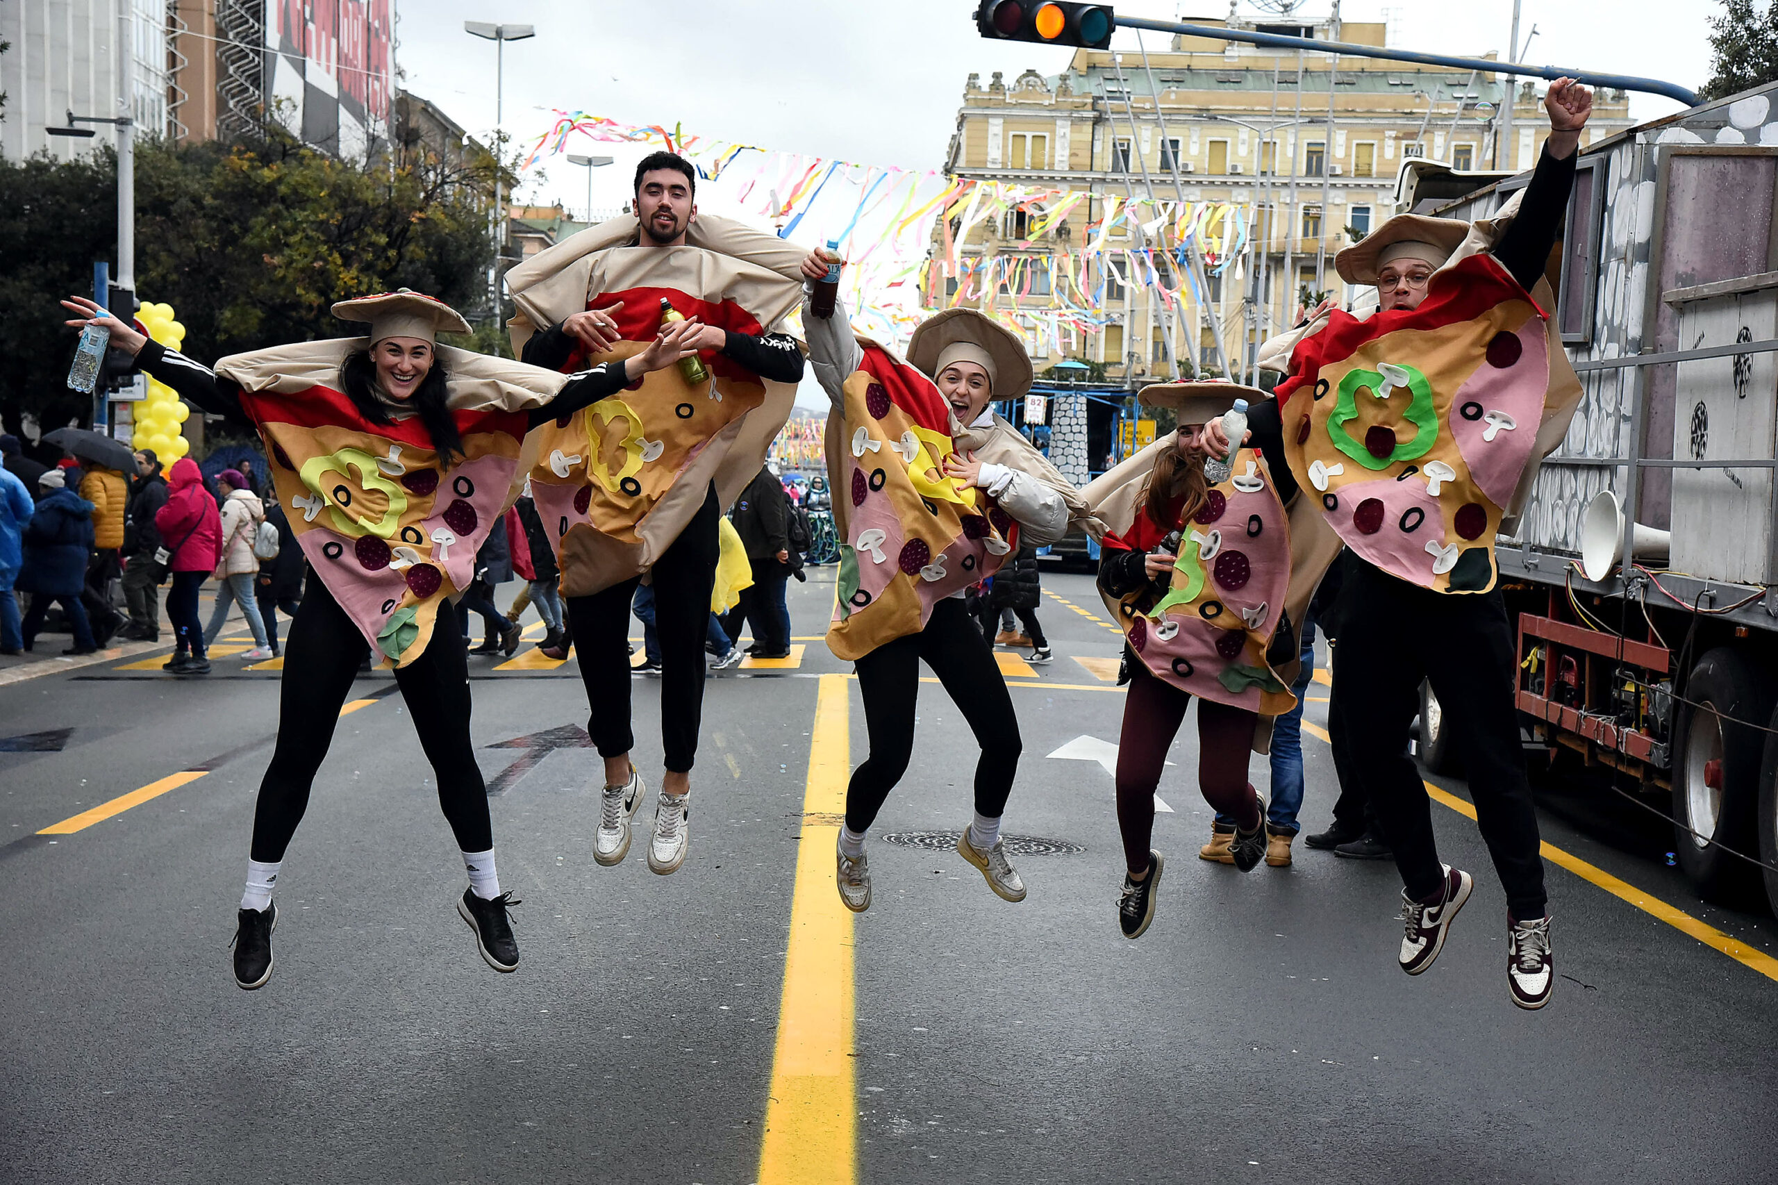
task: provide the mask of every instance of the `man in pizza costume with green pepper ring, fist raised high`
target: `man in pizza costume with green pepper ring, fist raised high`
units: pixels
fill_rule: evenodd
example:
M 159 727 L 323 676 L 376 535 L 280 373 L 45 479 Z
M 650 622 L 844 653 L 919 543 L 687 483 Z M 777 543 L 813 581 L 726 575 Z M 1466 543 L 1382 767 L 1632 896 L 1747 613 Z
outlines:
M 1549 1002 L 1554 959 L 1494 537 L 1579 400 L 1547 269 L 1591 94 L 1563 78 L 1545 107 L 1550 135 L 1517 206 L 1478 224 L 1390 219 L 1335 258 L 1348 283 L 1378 286 L 1378 311 L 1325 311 L 1261 358 L 1289 374 L 1277 395 L 1291 468 L 1353 553 L 1339 694 L 1355 772 L 1406 886 L 1401 970 L 1431 966 L 1474 884 L 1440 863 L 1406 756 L 1430 680 L 1506 890 L 1508 993 L 1524 1009 Z

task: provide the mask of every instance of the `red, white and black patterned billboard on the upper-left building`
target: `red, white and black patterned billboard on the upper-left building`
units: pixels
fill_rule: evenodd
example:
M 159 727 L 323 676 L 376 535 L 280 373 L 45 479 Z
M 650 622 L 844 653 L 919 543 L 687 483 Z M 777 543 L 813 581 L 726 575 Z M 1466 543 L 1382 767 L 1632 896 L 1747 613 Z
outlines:
M 267 98 L 306 144 L 363 157 L 386 139 L 395 0 L 267 0 Z

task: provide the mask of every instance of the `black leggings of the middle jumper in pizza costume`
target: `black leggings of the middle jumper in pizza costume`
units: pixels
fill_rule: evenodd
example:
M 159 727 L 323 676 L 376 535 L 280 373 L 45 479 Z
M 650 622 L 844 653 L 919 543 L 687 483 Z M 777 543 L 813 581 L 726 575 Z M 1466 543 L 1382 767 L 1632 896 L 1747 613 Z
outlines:
M 1019 772 L 1019 717 L 1012 710 L 1006 678 L 994 651 L 969 617 L 962 598 L 948 596 L 932 609 L 919 633 L 884 642 L 857 662 L 859 692 L 871 754 L 852 770 L 846 786 L 846 826 L 866 831 L 884 799 L 901 781 L 914 756 L 914 710 L 919 706 L 919 660 L 939 676 L 951 703 L 981 746 L 976 762 L 976 813 L 999 818 L 1006 811 L 1013 774 Z

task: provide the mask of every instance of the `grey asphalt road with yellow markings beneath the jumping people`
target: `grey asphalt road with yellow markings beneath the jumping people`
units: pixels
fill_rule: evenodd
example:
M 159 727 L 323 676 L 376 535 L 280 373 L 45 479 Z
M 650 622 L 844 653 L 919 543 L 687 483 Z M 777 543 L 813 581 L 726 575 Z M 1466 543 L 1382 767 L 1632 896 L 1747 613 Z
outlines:
M 1006 831 L 1051 842 L 1017 858 L 1029 899 L 919 845 L 967 824 L 974 763 L 926 683 L 853 922 L 832 811 L 866 742 L 857 685 L 818 641 L 830 580 L 791 585 L 797 665 L 711 680 L 692 852 L 670 877 L 640 842 L 619 868 L 592 861 L 599 770 L 573 664 L 473 660 L 501 881 L 523 899 L 516 975 L 453 911 L 461 859 L 388 676 L 364 676 L 368 703 L 340 722 L 256 993 L 235 988 L 228 945 L 276 671 L 224 658 L 176 681 L 112 662 L 0 687 L 0 1180 L 1778 1174 L 1778 927 L 1698 902 L 1659 827 L 1606 795 L 1543 801 L 1561 980 L 1538 1014 L 1508 1000 L 1504 899 L 1469 818 L 1435 808 L 1478 891 L 1410 979 L 1390 865 L 1195 859 L 1191 728 L 1161 786 L 1161 911 L 1125 941 L 1113 783 L 1090 756 L 1118 733 L 1102 678 L 1118 639 L 1086 576 L 1045 575 L 1056 662 L 1012 674 Z M 658 683 L 635 697 L 653 785 Z M 1070 746 L 1088 758 L 1049 756 Z M 1321 740 L 1305 753 L 1319 829 L 1334 770 Z M 139 788 L 164 792 L 39 834 Z

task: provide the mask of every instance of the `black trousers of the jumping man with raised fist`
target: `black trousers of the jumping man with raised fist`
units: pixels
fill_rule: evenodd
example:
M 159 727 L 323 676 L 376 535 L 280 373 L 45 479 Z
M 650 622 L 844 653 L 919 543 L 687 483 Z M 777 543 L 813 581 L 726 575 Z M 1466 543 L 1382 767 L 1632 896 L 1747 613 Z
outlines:
M 1518 662 L 1499 592 L 1444 594 L 1353 564 L 1342 596 L 1335 694 L 1344 699 L 1353 774 L 1364 783 L 1410 897 L 1438 891 L 1431 799 L 1408 756 L 1430 680 L 1469 770 L 1476 822 L 1515 918 L 1542 918 L 1543 858 L 1513 703 Z

